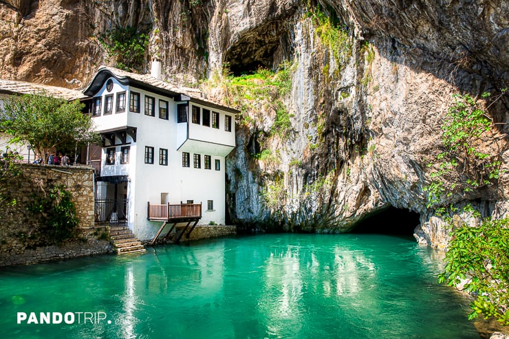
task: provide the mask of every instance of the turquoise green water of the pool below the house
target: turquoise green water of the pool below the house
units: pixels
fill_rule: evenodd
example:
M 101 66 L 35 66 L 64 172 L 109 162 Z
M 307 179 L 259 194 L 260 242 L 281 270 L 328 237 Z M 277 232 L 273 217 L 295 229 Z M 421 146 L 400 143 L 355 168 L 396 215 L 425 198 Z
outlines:
M 468 302 L 437 284 L 440 265 L 437 252 L 413 239 L 266 234 L 3 268 L 0 332 L 2 338 L 478 338 L 466 320 Z M 17 324 L 18 312 L 36 312 L 38 321 L 39 312 L 71 312 L 74 322 Z M 76 312 L 105 320 L 78 322 Z

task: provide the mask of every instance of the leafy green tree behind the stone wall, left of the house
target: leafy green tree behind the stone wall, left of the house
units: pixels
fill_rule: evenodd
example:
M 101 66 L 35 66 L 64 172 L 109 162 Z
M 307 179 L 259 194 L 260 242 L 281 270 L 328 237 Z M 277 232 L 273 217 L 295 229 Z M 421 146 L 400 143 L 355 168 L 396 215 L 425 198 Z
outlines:
M 42 92 L 12 96 L 3 106 L 0 130 L 10 135 L 10 142 L 28 143 L 43 156 L 57 147 L 74 148 L 98 140 L 78 100 L 68 102 Z

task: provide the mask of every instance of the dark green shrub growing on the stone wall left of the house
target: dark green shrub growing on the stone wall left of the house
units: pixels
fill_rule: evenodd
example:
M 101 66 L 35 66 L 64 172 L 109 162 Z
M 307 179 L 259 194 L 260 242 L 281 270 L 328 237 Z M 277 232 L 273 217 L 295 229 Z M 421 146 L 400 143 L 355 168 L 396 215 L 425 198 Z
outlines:
M 79 220 L 76 206 L 71 200 L 72 194 L 65 186 L 52 186 L 48 192 L 41 189 L 41 192 L 32 198 L 28 210 L 43 224 L 44 230 L 56 243 L 74 237 Z

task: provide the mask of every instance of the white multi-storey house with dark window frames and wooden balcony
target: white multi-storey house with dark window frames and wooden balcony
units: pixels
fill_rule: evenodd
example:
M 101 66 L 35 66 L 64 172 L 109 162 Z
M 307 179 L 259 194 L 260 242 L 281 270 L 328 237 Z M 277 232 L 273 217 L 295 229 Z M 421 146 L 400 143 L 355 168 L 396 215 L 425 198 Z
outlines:
M 100 168 L 96 215 L 126 221 L 142 240 L 162 222 L 225 223 L 225 157 L 238 113 L 159 80 L 155 70 L 101 67 L 83 91 L 102 135 L 91 157 Z

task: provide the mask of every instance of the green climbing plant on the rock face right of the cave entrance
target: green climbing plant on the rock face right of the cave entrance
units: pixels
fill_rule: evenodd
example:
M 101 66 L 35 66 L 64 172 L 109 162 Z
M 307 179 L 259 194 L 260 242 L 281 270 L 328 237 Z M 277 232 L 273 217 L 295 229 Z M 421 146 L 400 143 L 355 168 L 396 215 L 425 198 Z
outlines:
M 440 205 L 444 197 L 461 190 L 495 184 L 499 178 L 499 155 L 480 151 L 481 136 L 492 129 L 490 118 L 468 94 L 453 97 L 455 102 L 442 123 L 444 151 L 436 163 L 428 165 L 433 181 L 425 188 L 427 207 Z

